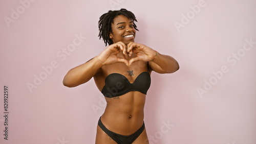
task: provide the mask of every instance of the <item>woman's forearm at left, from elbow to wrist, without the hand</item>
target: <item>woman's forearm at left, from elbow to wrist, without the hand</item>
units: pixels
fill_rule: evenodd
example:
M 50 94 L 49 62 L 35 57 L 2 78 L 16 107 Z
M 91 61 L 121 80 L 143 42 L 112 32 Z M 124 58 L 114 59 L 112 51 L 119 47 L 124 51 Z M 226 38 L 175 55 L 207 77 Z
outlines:
M 94 57 L 90 61 L 69 70 L 63 79 L 63 85 L 75 87 L 88 82 L 102 66 L 102 62 Z

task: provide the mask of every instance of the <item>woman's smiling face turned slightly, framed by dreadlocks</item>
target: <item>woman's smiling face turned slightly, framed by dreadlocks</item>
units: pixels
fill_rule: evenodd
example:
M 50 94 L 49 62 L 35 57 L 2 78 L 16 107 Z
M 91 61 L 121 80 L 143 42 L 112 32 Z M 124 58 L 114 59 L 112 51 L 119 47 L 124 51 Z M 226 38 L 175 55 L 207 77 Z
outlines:
M 123 15 L 118 15 L 114 18 L 111 27 L 112 33 L 110 33 L 110 38 L 113 43 L 122 41 L 127 45 L 130 42 L 134 42 L 136 30 L 131 19 L 128 19 Z

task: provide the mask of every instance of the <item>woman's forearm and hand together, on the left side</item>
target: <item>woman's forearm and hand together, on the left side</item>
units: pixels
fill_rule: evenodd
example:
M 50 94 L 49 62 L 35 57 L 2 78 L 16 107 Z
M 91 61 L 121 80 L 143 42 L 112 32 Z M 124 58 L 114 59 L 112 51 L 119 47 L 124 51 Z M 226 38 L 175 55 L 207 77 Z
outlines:
M 126 45 L 122 42 L 117 42 L 107 47 L 98 56 L 69 70 L 63 79 L 63 85 L 67 87 L 75 87 L 88 82 L 93 76 L 100 73 L 103 65 L 108 65 L 116 62 L 123 62 L 128 65 L 128 61 L 123 58 L 118 58 L 117 54 L 123 52 L 126 54 Z

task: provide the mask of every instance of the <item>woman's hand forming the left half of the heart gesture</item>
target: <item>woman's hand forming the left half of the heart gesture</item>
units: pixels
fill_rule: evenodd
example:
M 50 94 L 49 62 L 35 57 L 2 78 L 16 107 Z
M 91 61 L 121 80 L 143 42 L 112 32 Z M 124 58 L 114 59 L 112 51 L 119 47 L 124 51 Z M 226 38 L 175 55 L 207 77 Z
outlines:
M 129 66 L 129 62 L 126 59 L 117 57 L 117 54 L 120 52 L 123 52 L 124 55 L 127 55 L 126 45 L 121 41 L 111 44 L 109 47 L 107 47 L 103 52 L 99 54 L 98 59 L 104 65 L 123 62 Z

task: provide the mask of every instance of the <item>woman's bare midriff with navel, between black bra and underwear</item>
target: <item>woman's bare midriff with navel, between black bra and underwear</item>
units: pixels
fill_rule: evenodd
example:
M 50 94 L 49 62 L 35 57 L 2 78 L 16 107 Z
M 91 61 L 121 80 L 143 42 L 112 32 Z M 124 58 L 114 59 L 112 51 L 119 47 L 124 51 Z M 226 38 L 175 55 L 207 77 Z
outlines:
M 143 124 L 146 95 L 130 91 L 119 97 L 105 98 L 106 108 L 101 116 L 103 125 L 110 131 L 131 135 Z

